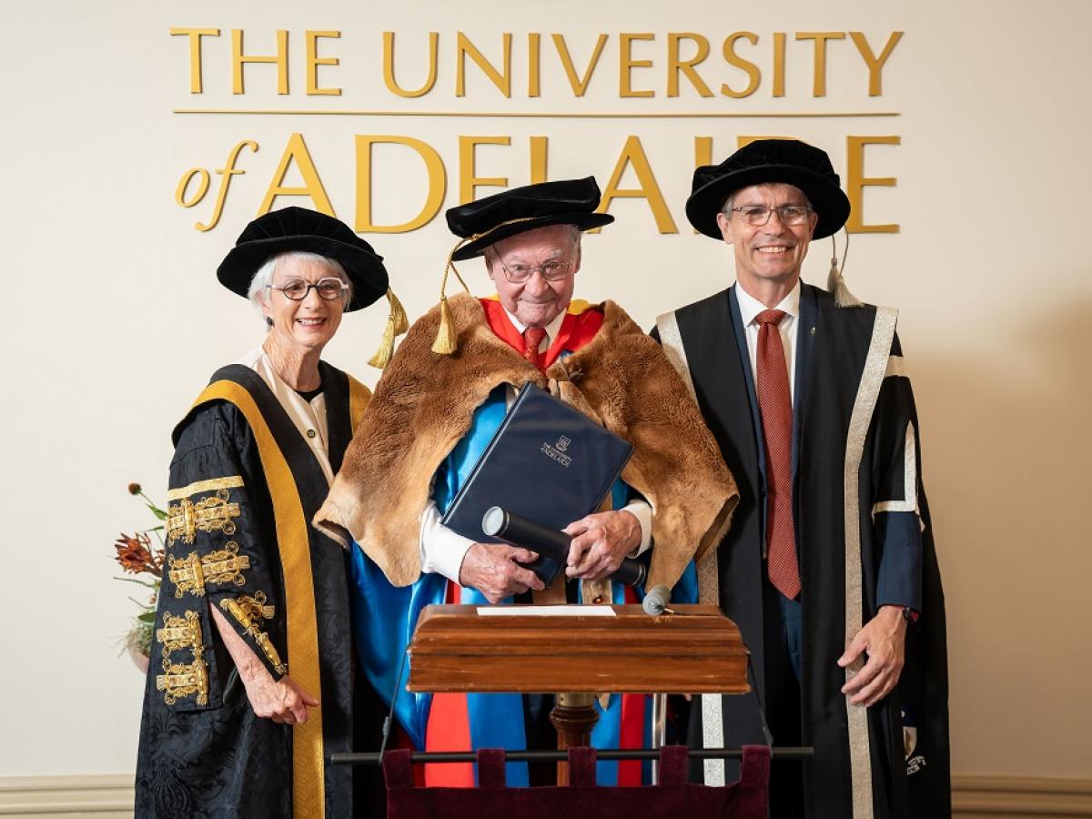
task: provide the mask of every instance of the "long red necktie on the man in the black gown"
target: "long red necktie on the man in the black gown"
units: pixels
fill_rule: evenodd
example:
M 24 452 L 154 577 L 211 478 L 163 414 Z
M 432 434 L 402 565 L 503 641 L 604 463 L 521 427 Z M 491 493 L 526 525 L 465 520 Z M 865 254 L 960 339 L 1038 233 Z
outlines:
M 793 600 L 800 593 L 796 562 L 796 527 L 793 523 L 793 402 L 788 394 L 785 347 L 778 324 L 782 310 L 763 310 L 756 352 L 758 407 L 765 444 L 765 545 L 767 571 L 774 589 Z

